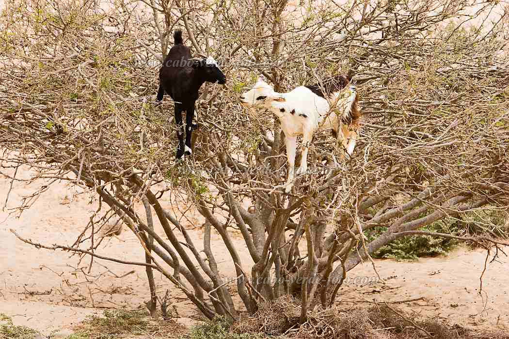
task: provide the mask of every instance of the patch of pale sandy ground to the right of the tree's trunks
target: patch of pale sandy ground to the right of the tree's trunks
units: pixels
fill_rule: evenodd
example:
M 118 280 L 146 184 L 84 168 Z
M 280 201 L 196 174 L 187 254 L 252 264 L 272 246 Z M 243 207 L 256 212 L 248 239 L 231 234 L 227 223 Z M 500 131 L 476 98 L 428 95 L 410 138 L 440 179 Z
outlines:
M 491 259 L 493 256 L 490 256 Z M 423 297 L 424 300 L 399 305 L 409 312 L 417 312 L 423 317 L 438 317 L 450 324 L 507 329 L 509 260 L 502 255 L 487 264 L 480 290 L 480 275 L 485 261 L 486 251 L 465 248 L 447 256 L 422 258 L 418 262 L 375 260 L 385 284 L 350 285 L 341 289 L 345 294 L 338 299 L 348 304 L 362 299 L 390 302 Z M 371 263 L 357 266 L 350 273 L 376 277 Z

